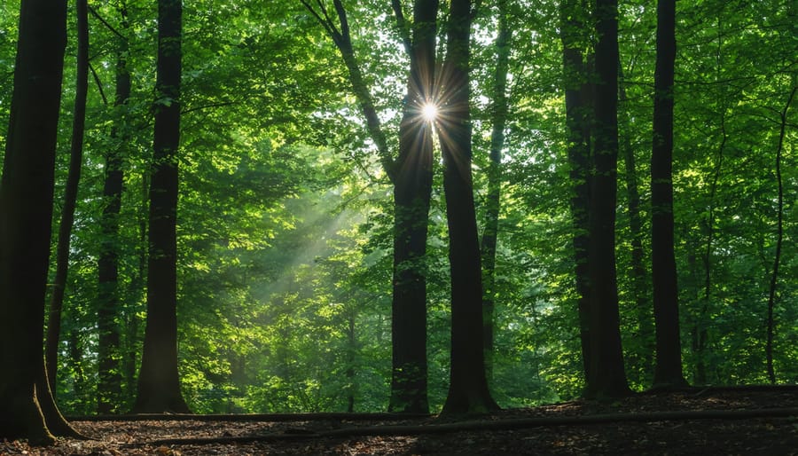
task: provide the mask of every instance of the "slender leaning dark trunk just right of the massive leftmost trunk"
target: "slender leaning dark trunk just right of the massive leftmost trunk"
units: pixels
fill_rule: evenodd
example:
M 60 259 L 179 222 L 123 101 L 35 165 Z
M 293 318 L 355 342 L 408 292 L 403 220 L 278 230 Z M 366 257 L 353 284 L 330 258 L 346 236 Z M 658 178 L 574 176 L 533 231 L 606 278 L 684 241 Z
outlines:
M 64 307 L 66 275 L 69 268 L 69 240 L 74 224 L 74 208 L 83 163 L 83 131 L 86 125 L 86 92 L 89 89 L 89 8 L 86 0 L 75 4 L 77 16 L 77 68 L 74 83 L 74 116 L 72 145 L 69 153 L 69 172 L 66 177 L 64 207 L 59 223 L 59 244 L 56 248 L 56 273 L 52 284 L 50 311 L 47 314 L 47 339 L 44 350 L 47 378 L 53 397 L 56 394 L 56 375 L 59 366 L 61 310 Z

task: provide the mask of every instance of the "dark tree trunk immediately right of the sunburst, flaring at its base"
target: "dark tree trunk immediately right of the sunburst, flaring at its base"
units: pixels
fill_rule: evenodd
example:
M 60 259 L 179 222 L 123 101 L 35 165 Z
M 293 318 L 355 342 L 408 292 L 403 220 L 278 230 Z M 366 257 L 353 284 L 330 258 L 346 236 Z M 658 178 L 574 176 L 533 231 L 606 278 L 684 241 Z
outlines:
M 471 177 L 469 57 L 471 1 L 452 0 L 446 59 L 440 86 L 445 117 L 439 124 L 443 190 L 449 225 L 451 270 L 451 366 L 443 413 L 496 410 L 485 378 L 482 333 L 480 246 Z

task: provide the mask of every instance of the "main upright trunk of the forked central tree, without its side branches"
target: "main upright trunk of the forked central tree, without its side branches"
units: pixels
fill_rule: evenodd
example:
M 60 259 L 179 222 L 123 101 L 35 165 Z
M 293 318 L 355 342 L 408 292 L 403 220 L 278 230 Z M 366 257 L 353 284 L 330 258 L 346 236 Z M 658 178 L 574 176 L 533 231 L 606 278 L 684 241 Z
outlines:
M 394 293 L 391 412 L 428 413 L 426 394 L 426 234 L 433 179 L 432 128 L 421 114 L 434 98 L 437 0 L 416 0 L 411 68 L 399 159 L 394 166 Z M 397 12 L 401 18 L 401 10 Z

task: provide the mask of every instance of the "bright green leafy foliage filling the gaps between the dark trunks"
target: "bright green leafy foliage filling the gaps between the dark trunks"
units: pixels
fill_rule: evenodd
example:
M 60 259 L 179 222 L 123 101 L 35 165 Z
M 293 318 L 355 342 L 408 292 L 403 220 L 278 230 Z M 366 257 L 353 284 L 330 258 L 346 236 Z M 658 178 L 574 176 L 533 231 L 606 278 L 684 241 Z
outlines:
M 456 255 L 466 248 L 480 256 L 474 283 L 481 288 L 472 295 L 489 309 L 482 312 L 489 329 L 477 326 L 465 339 L 484 342 L 489 397 L 517 407 L 581 396 L 583 260 L 575 239 L 587 228 L 575 224 L 574 201 L 592 179 L 617 185 L 608 208 L 622 371 L 631 390 L 652 387 L 652 224 L 653 207 L 661 208 L 653 206 L 653 112 L 661 98 L 672 101 L 673 294 L 684 379 L 798 382 L 794 2 L 677 2 L 665 97 L 655 90 L 661 67 L 651 2 L 616 4 L 617 61 L 603 53 L 608 35 L 597 35 L 588 3 L 465 2 L 465 14 L 460 4 L 187 2 L 177 30 L 180 90 L 170 92 L 156 74 L 170 56 L 159 42 L 169 16 L 159 16 L 155 2 L 88 3 L 82 176 L 66 237 L 57 359 L 48 360 L 56 363 L 50 380 L 63 413 L 126 413 L 136 405 L 154 258 L 148 222 L 160 195 L 153 169 L 172 162 L 176 356 L 192 412 L 423 409 L 403 383 L 419 380 L 412 369 L 425 371 L 428 410 L 440 411 L 456 359 L 452 341 L 463 340 L 453 339 L 452 326 L 465 327 L 453 316 L 465 308 L 452 300 L 468 282 L 456 278 L 463 264 Z M 79 115 L 79 15 L 70 2 L 47 303 L 58 288 Z M 19 21 L 19 0 L 0 5 L 4 126 Z M 463 39 L 467 45 L 453 44 Z M 576 73 L 567 51 L 580 62 Z M 591 84 L 597 104 L 609 93 L 599 63 L 617 71 L 616 91 L 604 97 L 617 103 L 617 156 L 606 161 L 617 170 L 603 173 L 599 163 L 580 175 L 571 127 L 590 124 L 590 150 L 606 143 L 603 120 L 567 110 L 567 97 L 588 88 L 581 109 L 593 113 Z M 461 79 L 446 79 L 458 71 Z M 437 117 L 411 118 L 420 98 L 440 103 Z M 179 117 L 179 146 L 156 155 L 159 116 L 169 109 Z M 420 129 L 419 144 L 408 142 L 412 129 Z M 10 135 L 0 130 L 0 158 Z M 463 138 L 468 161 L 447 145 Z M 458 166 L 465 170 L 458 174 Z M 463 216 L 455 204 L 464 202 L 454 195 L 473 198 L 465 218 L 475 237 L 452 223 Z M 403 217 L 419 213 L 413 220 L 423 225 L 401 231 Z M 594 216 L 593 224 L 605 220 Z M 460 234 L 479 244 L 450 248 Z M 420 292 L 402 287 L 414 280 L 422 280 Z M 412 369 L 404 371 L 392 364 L 399 293 L 408 293 L 408 312 L 412 299 L 421 303 L 412 308 L 421 326 L 403 326 L 416 328 L 404 341 L 424 342 L 408 351 L 403 366 Z M 423 366 L 412 364 L 419 351 Z

